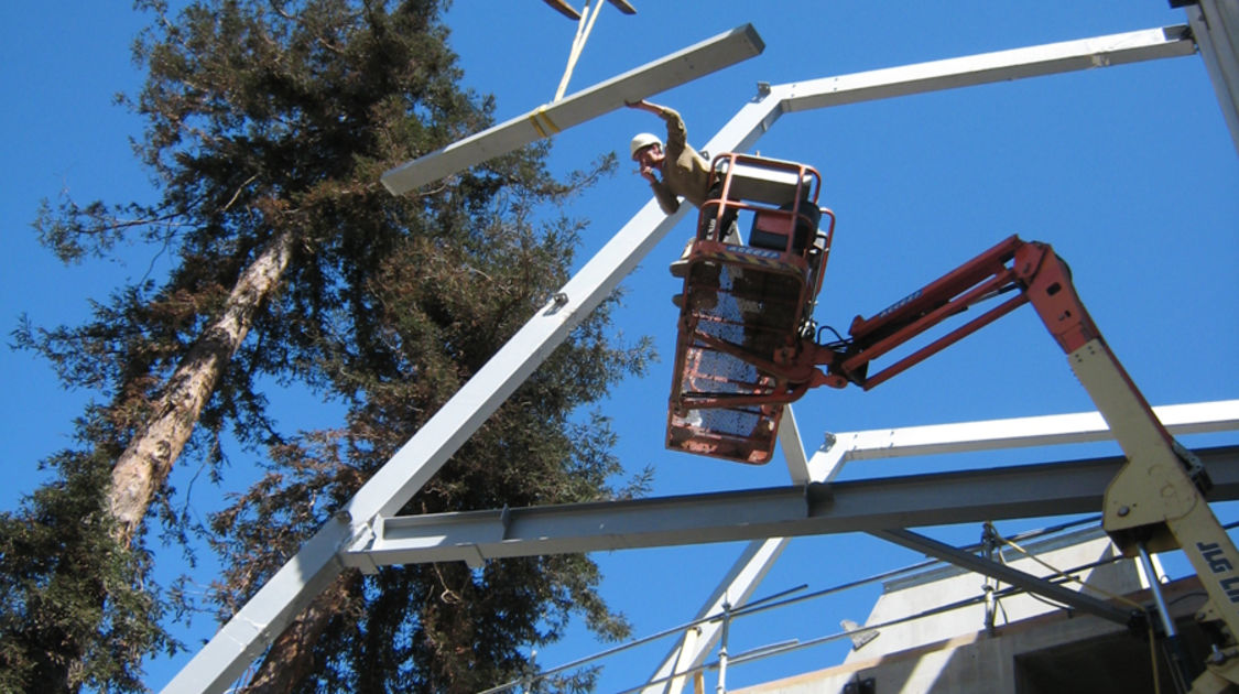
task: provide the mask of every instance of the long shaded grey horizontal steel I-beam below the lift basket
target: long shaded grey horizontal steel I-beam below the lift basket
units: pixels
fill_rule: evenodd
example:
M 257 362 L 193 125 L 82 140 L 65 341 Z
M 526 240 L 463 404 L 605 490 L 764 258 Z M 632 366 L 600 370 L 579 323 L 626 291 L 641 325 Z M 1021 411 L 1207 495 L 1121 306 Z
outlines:
M 1239 498 L 1239 446 L 1198 452 Z M 467 561 L 1089 513 L 1121 457 L 711 494 L 382 518 L 346 565 Z

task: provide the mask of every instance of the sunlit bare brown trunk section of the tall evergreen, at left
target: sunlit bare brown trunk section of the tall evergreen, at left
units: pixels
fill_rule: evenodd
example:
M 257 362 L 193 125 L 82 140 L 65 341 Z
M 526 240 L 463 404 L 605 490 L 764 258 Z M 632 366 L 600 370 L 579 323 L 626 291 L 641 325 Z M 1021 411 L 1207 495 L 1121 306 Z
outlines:
M 228 295 L 223 314 L 177 364 L 151 418 L 116 460 L 108 506 L 121 544 L 133 543 L 151 498 L 167 481 L 219 376 L 245 338 L 255 311 L 279 286 L 291 254 L 292 234 L 285 231 L 245 268 Z

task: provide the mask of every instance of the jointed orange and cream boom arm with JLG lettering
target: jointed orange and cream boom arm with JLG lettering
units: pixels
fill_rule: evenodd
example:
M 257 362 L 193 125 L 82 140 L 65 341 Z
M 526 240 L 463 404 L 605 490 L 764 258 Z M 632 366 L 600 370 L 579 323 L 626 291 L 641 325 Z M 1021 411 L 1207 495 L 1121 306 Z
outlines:
M 1015 294 L 912 354 L 869 373 L 873 359 L 1006 292 Z M 1239 551 L 1204 498 L 1209 481 L 1203 467 L 1157 420 L 1084 309 L 1067 264 L 1049 245 L 1007 238 L 876 316 L 857 316 L 847 340 L 805 342 L 777 361 L 788 374 L 808 376 L 798 389 L 849 383 L 870 389 L 1025 304 L 1032 304 L 1067 353 L 1072 371 L 1127 459 L 1106 490 L 1106 533 L 1127 556 L 1147 559 L 1149 551 L 1183 549 L 1209 596 L 1197 618 L 1215 642 L 1192 692 L 1230 690 L 1239 684 Z M 1173 637 L 1173 625 L 1165 607 L 1161 611 L 1167 636 Z

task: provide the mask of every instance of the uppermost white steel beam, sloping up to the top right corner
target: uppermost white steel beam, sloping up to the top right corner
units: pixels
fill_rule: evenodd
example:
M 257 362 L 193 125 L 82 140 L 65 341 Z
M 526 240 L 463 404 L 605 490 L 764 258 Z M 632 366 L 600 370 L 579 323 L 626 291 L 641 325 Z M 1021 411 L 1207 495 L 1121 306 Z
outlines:
M 1186 26 L 1130 31 L 788 84 L 793 94 L 787 110 L 906 97 L 1193 52 L 1196 45 Z

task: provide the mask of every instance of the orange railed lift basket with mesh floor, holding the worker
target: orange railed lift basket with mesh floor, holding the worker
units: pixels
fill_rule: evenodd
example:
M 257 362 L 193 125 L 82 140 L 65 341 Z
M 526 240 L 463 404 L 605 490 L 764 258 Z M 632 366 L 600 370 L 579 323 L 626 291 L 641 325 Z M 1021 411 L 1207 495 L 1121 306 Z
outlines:
M 818 207 L 821 176 L 809 166 L 727 152 L 711 171 L 678 297 L 667 445 L 764 463 L 783 405 L 808 388 L 781 364 L 812 345 L 834 213 Z M 726 243 L 741 218 L 748 244 Z

